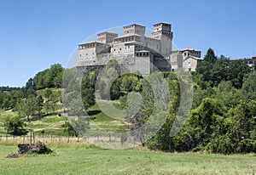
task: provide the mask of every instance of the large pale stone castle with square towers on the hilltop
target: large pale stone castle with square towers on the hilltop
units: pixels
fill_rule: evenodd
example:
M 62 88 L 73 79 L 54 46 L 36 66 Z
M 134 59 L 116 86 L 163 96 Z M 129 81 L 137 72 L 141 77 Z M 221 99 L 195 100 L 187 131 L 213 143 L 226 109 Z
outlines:
M 105 31 L 97 34 L 97 41 L 80 43 L 77 71 L 102 69 L 109 59 L 116 59 L 123 67 L 131 72 L 139 71 L 142 76 L 177 68 L 195 71 L 201 61 L 201 51 L 192 48 L 172 51 L 171 24 L 155 24 L 150 37 L 145 36 L 145 31 L 143 25 L 125 25 L 123 36 Z

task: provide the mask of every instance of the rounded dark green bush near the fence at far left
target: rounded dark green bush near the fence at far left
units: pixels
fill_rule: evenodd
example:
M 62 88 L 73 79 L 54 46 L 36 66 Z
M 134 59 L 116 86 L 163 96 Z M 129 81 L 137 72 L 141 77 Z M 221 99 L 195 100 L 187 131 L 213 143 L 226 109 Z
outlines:
M 3 121 L 3 125 L 8 133 L 14 135 L 25 133 L 25 130 L 23 129 L 25 122 L 20 116 L 7 116 Z

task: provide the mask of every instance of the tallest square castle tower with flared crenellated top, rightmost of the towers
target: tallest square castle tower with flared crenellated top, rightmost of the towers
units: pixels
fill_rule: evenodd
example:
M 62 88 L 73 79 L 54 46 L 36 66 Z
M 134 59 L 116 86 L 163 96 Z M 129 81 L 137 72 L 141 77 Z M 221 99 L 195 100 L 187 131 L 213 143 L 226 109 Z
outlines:
M 172 25 L 168 23 L 158 23 L 154 25 L 154 31 L 152 32 L 152 37 L 154 39 L 159 39 L 161 41 L 160 54 L 163 56 L 168 56 L 172 52 Z

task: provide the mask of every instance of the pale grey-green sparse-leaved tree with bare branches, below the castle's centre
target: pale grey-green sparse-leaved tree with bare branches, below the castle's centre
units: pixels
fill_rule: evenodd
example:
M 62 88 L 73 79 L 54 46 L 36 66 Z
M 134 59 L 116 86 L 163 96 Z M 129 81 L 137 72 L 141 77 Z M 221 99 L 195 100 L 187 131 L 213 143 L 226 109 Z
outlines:
M 130 123 L 131 135 L 145 146 L 166 121 L 170 94 L 162 74 L 157 72 L 143 79 L 142 85 L 143 91 L 128 93 L 125 119 Z

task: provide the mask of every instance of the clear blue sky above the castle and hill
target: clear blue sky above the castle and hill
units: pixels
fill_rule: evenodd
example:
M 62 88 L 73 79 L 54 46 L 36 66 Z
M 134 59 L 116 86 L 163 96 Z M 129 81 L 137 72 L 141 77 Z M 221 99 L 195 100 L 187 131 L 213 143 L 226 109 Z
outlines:
M 177 48 L 230 58 L 256 55 L 256 1 L 0 0 L 0 86 L 22 87 L 38 71 L 67 61 L 98 31 L 137 23 L 172 24 Z

